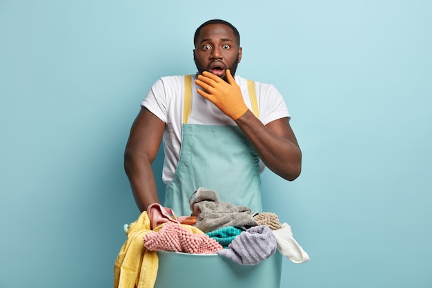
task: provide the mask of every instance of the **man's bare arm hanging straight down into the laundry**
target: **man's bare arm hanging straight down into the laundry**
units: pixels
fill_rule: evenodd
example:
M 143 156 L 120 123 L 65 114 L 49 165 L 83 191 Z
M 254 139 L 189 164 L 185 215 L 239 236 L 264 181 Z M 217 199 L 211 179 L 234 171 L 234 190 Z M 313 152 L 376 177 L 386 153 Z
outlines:
M 165 123 L 146 108 L 141 108 L 132 124 L 124 153 L 124 169 L 139 211 L 159 203 L 151 164 L 159 151 Z

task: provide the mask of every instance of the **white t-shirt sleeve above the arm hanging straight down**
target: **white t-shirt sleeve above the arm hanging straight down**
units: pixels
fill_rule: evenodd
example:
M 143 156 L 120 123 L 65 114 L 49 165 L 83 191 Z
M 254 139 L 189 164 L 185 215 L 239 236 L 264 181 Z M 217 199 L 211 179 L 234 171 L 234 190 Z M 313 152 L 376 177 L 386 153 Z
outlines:
M 150 88 L 146 97 L 141 102 L 151 113 L 155 114 L 163 122 L 168 122 L 168 96 L 164 87 L 164 81 L 158 79 Z

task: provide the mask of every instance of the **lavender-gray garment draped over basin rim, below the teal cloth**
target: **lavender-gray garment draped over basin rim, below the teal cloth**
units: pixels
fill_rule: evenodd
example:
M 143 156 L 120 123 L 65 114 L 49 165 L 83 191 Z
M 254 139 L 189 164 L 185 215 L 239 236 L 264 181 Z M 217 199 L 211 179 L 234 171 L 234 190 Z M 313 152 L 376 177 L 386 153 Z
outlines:
M 276 249 L 277 241 L 272 230 L 266 225 L 260 225 L 243 231 L 230 242 L 228 249 L 216 253 L 239 265 L 258 265 L 272 256 Z

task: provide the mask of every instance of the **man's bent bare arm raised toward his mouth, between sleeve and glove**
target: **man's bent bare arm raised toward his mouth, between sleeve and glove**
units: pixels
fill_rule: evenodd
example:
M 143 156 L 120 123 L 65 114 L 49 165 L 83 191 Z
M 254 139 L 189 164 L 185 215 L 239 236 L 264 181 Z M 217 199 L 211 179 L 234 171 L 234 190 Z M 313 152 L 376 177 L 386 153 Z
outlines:
M 300 175 L 302 152 L 288 118 L 276 119 L 264 126 L 248 110 L 235 122 L 251 140 L 268 169 L 289 181 Z

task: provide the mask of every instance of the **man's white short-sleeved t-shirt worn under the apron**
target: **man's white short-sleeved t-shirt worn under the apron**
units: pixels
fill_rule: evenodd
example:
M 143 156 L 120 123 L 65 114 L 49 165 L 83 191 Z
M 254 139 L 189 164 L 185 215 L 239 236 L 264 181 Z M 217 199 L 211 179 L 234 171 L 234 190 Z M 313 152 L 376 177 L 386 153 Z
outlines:
M 192 108 L 188 124 L 205 125 L 236 125 L 233 119 L 226 116 L 212 102 L 197 93 L 192 77 Z M 235 81 L 242 90 L 244 103 L 251 109 L 251 99 L 248 94 L 247 79 L 235 76 Z M 255 81 L 255 91 L 259 108 L 259 119 L 266 125 L 275 119 L 291 117 L 284 98 L 271 84 Z M 166 123 L 164 131 L 164 169 L 162 180 L 168 185 L 175 173 L 179 161 L 181 146 L 181 124 L 183 122 L 184 76 L 161 77 L 153 84 L 141 105 Z M 251 109 L 252 111 L 252 109 Z M 260 171 L 264 164 L 260 162 Z

